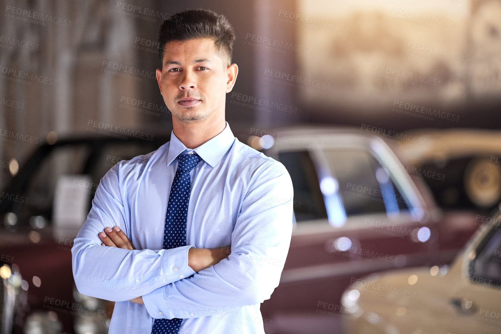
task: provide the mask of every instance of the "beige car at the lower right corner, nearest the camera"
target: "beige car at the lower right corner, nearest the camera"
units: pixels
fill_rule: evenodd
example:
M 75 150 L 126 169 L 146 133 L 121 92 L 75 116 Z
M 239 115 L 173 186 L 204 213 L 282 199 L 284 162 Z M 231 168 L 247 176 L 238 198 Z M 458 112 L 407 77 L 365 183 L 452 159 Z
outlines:
M 450 269 L 409 268 L 353 279 L 342 297 L 346 332 L 501 332 L 501 209 L 482 220 Z

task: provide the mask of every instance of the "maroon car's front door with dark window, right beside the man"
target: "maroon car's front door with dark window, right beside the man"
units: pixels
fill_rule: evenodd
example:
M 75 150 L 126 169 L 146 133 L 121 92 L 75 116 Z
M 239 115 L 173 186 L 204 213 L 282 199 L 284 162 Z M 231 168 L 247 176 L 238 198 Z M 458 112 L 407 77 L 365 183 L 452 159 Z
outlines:
M 332 275 L 350 260 L 333 248 L 332 240 L 346 233 L 329 224 L 312 152 L 284 151 L 278 158 L 293 180 L 295 228 L 281 283 L 262 304 L 264 316 L 315 310 L 318 298 L 330 300 L 340 288 Z

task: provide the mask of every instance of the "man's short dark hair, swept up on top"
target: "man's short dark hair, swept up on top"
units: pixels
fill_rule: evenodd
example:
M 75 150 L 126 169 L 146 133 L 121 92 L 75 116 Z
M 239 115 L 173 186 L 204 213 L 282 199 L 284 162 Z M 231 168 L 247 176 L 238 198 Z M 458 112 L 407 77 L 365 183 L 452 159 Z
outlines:
M 209 38 L 214 41 L 221 58 L 231 64 L 235 33 L 229 21 L 214 11 L 196 9 L 171 15 L 158 30 L 158 54 L 163 60 L 165 44 L 171 41 L 187 41 Z

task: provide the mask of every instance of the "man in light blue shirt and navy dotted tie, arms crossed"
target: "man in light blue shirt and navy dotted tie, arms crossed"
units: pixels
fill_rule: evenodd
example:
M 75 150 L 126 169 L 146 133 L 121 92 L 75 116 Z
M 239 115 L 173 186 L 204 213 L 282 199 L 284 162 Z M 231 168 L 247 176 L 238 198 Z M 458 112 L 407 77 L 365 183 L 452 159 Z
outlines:
M 260 303 L 289 250 L 293 188 L 224 120 L 234 38 L 205 10 L 160 28 L 171 140 L 106 173 L 72 248 L 78 290 L 116 301 L 110 333 L 264 332 Z

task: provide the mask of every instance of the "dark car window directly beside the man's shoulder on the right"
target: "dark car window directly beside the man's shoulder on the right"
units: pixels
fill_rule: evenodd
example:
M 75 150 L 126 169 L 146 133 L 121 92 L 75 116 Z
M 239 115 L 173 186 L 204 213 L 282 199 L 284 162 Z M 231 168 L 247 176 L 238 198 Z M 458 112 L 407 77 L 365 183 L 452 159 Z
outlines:
M 320 191 L 317 172 L 308 151 L 280 152 L 294 187 L 294 215 L 299 223 L 327 218 L 324 197 Z

